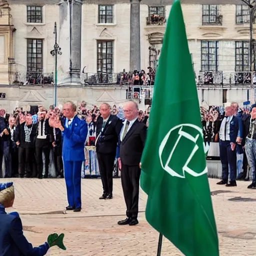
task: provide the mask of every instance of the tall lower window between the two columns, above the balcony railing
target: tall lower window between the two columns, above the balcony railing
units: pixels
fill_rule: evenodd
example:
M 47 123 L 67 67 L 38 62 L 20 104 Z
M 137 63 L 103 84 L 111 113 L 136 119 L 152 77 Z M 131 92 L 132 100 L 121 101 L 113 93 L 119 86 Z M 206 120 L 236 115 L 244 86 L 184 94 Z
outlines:
M 97 41 L 97 72 L 113 71 L 113 41 Z

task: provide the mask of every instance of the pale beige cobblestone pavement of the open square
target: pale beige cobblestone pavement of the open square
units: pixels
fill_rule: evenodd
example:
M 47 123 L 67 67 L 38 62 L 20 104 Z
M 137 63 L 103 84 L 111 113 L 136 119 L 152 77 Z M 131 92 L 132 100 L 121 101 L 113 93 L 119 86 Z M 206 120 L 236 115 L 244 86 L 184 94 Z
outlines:
M 249 182 L 238 181 L 237 187 L 225 187 L 216 185 L 216 181 L 209 179 L 220 255 L 255 255 L 256 190 L 246 188 Z M 139 225 L 116 224 L 125 217 L 120 179 L 114 179 L 112 200 L 98 200 L 102 192 L 100 179 L 83 179 L 82 211 L 67 214 L 62 213 L 66 206 L 63 179 L 14 179 L 14 184 L 16 199 L 10 210 L 20 213 L 24 233 L 34 246 L 43 243 L 51 232 L 65 233 L 67 250 L 53 247 L 47 255 L 156 255 L 158 233 L 145 220 L 143 192 L 140 193 Z M 182 253 L 164 239 L 161 255 Z

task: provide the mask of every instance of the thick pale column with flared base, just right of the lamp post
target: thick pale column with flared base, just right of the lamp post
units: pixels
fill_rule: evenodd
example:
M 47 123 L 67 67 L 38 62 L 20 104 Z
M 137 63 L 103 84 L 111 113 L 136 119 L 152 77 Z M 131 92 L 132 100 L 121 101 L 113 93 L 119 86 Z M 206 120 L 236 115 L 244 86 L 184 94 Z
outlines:
M 66 2 L 66 0 L 63 0 Z M 67 20 L 69 25 L 65 28 L 66 33 L 69 34 L 69 46 L 68 48 L 63 49 L 62 52 L 67 51 L 69 54 L 68 59 L 68 75 L 66 78 L 60 83 L 61 85 L 80 85 L 80 71 L 81 71 L 81 14 L 82 14 L 82 1 L 81 0 L 67 0 L 68 5 L 64 6 L 64 4 L 60 4 L 60 19 L 64 18 L 64 15 L 61 14 L 69 14 L 67 15 Z M 63 6 L 61 6 L 63 5 Z M 65 9 L 66 8 L 66 9 Z M 65 20 L 65 18 L 63 19 Z M 61 20 L 60 20 L 61 22 Z M 69 29 L 67 29 L 69 28 Z M 60 41 L 61 42 L 61 41 Z

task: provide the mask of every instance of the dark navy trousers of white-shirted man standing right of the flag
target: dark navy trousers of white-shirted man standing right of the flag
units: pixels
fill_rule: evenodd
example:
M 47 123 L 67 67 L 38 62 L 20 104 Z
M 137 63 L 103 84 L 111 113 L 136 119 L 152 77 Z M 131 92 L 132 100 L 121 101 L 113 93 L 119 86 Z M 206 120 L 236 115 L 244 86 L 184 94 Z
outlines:
M 231 149 L 229 140 L 219 141 L 219 154 L 222 165 L 222 179 L 228 180 L 228 169 L 230 171 L 230 182 L 236 178 L 236 150 Z

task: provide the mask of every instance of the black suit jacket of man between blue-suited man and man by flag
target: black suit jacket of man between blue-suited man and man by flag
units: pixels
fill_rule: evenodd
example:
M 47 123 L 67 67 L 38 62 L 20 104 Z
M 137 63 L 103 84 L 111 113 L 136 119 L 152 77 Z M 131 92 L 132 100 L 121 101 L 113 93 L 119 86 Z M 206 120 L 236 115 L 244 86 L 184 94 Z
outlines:
M 110 114 L 104 129 L 101 131 L 103 118 L 99 117 L 96 123 L 96 152 L 97 153 L 114 153 L 116 152 L 118 136 L 122 127 L 122 120 L 116 115 Z

